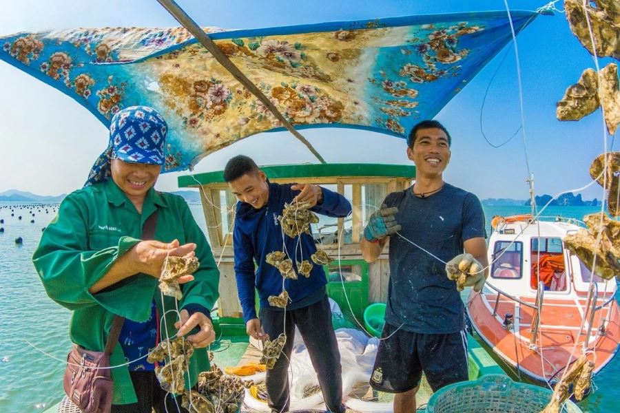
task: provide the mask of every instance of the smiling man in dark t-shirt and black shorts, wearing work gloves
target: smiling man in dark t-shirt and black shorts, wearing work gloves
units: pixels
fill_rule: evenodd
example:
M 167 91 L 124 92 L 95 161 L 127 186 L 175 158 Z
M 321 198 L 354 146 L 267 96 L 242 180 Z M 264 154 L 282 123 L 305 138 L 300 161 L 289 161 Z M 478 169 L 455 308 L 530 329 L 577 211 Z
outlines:
M 396 393 L 395 413 L 415 410 L 422 372 L 433 391 L 468 379 L 464 306 L 446 262 L 464 262 L 466 272 L 471 268 L 465 285 L 481 290 L 486 231 L 478 198 L 443 180 L 450 144 L 436 120 L 415 125 L 407 139 L 415 184 L 390 193 L 364 229 L 367 262 L 377 260 L 390 240 L 386 324 L 370 383 Z

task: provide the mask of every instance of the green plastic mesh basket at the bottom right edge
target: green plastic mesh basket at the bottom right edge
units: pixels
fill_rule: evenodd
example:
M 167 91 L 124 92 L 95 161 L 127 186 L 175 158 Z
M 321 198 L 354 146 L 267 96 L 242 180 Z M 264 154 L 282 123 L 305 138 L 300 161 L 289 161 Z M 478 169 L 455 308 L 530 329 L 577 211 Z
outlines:
M 503 374 L 487 374 L 437 390 L 428 400 L 427 413 L 539 413 L 551 401 L 551 390 L 515 383 Z M 568 400 L 561 413 L 581 413 Z

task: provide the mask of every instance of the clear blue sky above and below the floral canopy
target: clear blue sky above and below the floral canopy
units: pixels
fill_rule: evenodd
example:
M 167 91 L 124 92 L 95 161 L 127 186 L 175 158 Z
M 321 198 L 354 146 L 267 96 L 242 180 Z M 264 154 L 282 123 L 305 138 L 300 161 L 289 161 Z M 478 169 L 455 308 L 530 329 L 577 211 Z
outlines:
M 510 10 L 536 10 L 545 1 L 508 1 Z M 177 3 L 201 26 L 263 28 L 410 14 L 506 10 L 504 0 L 192 1 Z M 0 0 L 0 35 L 59 28 L 173 27 L 178 23 L 156 0 Z M 555 3 L 557 8 L 562 2 Z M 451 132 L 452 158 L 444 180 L 479 198 L 555 195 L 588 184 L 592 160 L 604 151 L 600 109 L 579 122 L 559 122 L 555 103 L 595 62 L 573 36 L 561 12 L 539 16 L 517 36 L 524 112 L 513 43 L 477 74 L 435 116 Z M 610 59 L 600 59 L 603 67 Z M 0 193 L 9 189 L 59 195 L 82 187 L 92 162 L 107 145 L 107 129 L 58 90 L 0 61 Z M 483 104 L 484 103 L 484 104 Z M 523 118 L 523 128 L 519 130 Z M 515 132 L 518 133 L 515 135 Z M 304 129 L 328 162 L 410 165 L 404 140 L 371 131 Z M 510 139 L 511 136 L 514 137 Z M 509 140 L 510 139 L 510 140 Z M 488 140 L 488 142 L 487 142 Z M 509 140 L 506 145 L 495 148 Z M 611 137 L 608 137 L 608 147 Z M 334 142 L 337 142 L 336 144 Z M 490 142 L 490 143 L 489 143 Z M 243 153 L 259 165 L 317 162 L 288 132 L 251 136 L 200 160 L 194 173 L 224 168 Z M 160 176 L 156 188 L 178 190 L 188 171 Z M 594 184 L 584 200 L 601 199 Z

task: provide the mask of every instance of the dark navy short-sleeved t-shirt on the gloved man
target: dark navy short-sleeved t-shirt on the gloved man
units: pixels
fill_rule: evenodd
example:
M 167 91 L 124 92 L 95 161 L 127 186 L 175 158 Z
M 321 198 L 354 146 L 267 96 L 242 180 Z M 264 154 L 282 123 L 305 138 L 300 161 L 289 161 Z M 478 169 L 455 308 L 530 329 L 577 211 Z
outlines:
M 463 242 L 485 237 L 484 212 L 478 198 L 451 184 L 418 198 L 410 188 L 387 195 L 397 207 L 400 234 L 444 262 L 462 254 Z M 390 237 L 390 280 L 386 322 L 403 330 L 448 334 L 464 329 L 464 306 L 446 264 L 404 240 Z

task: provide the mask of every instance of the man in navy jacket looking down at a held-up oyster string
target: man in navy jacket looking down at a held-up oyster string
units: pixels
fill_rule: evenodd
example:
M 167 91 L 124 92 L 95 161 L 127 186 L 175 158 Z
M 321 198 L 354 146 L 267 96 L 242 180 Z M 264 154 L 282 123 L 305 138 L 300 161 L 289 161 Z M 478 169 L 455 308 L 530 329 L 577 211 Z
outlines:
M 238 199 L 233 235 L 237 290 L 247 334 L 255 339 L 287 336 L 285 347 L 275 366 L 267 370 L 267 395 L 271 412 L 289 410 L 289 359 L 293 350 L 295 327 L 307 346 L 317 372 L 325 405 L 331 412 L 344 412 L 338 343 L 331 325 L 331 310 L 322 266 L 314 264 L 309 277 L 297 271 L 296 260 L 310 260 L 316 253 L 312 235 L 302 233 L 291 238 L 282 232 L 278 216 L 286 203 L 309 202 L 311 211 L 329 217 L 346 217 L 351 203 L 342 195 L 311 184 L 274 184 L 265 172 L 247 156 L 231 158 L 224 179 Z M 297 279 L 283 279 L 278 268 L 267 264 L 265 256 L 273 251 L 288 251 Z M 293 251 L 302 251 L 303 257 Z M 256 262 L 256 270 L 254 263 Z M 256 316 L 254 288 L 260 297 Z M 286 290 L 286 308 L 269 305 L 270 296 Z

